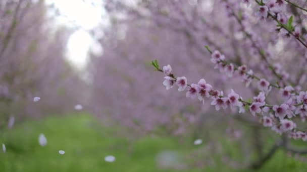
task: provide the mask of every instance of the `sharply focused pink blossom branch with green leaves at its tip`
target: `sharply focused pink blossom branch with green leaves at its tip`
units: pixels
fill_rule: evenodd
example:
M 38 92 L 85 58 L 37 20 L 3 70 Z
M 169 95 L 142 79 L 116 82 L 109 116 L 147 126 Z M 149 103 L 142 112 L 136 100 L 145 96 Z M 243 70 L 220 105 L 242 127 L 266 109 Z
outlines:
M 218 57 L 218 58 L 216 58 Z M 219 53 L 213 52 L 212 61 L 220 62 L 223 60 L 222 55 Z M 257 97 L 253 97 L 253 102 L 247 102 L 242 99 L 237 93 L 231 90 L 231 93 L 228 94 L 228 97 L 224 96 L 223 91 L 219 92 L 214 90 L 212 85 L 206 82 L 204 79 L 200 79 L 197 84 L 192 83 L 188 84 L 186 77 L 176 77 L 173 74 L 172 67 L 170 65 L 164 66 L 163 69 L 160 68 L 158 61 L 154 60 L 151 64 L 156 68 L 157 71 L 163 72 L 166 76 L 164 77 L 163 84 L 166 89 L 169 90 L 173 88 L 174 83 L 178 85 L 178 91 L 182 92 L 188 88 L 186 92 L 187 98 L 198 97 L 199 101 L 204 103 L 204 98 L 212 98 L 213 101 L 211 105 L 215 106 L 215 109 L 219 111 L 221 108 L 227 109 L 229 106 L 231 109 L 235 107 L 239 108 L 239 113 L 244 113 L 245 109 L 248 108 L 249 112 L 255 116 L 256 114 L 262 114 L 261 118 L 263 125 L 266 127 L 271 127 L 272 130 L 277 133 L 287 133 L 289 137 L 292 138 L 301 138 L 304 141 L 307 141 L 307 133 L 302 131 L 296 131 L 296 124 L 288 120 L 295 116 L 295 114 L 306 115 L 307 113 L 307 92 L 300 92 L 299 96 L 292 97 L 296 101 L 292 101 L 290 97 L 282 105 L 269 105 L 265 102 L 265 93 L 260 92 Z M 261 81 L 261 80 L 260 80 Z M 266 87 L 268 87 L 268 82 L 264 81 Z M 295 103 L 297 102 L 297 103 Z M 293 112 L 295 110 L 295 113 Z M 263 113 L 266 112 L 275 112 L 274 115 L 265 116 Z M 276 119 L 275 119 L 276 118 Z

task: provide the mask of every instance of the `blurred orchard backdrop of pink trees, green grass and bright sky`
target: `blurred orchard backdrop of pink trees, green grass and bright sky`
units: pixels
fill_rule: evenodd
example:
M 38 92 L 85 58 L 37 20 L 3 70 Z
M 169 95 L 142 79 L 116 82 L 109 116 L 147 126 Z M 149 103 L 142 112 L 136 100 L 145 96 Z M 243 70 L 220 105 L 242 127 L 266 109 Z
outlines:
M 263 33 L 274 25 L 255 26 L 272 56 L 292 53 L 279 64 L 304 64 L 296 45 Z M 255 84 L 220 74 L 204 48 L 264 75 L 238 27 L 214 0 L 1 0 L 0 171 L 305 171 L 307 157 L 282 149 L 250 167 L 279 136 L 166 91 L 150 65 L 252 98 Z

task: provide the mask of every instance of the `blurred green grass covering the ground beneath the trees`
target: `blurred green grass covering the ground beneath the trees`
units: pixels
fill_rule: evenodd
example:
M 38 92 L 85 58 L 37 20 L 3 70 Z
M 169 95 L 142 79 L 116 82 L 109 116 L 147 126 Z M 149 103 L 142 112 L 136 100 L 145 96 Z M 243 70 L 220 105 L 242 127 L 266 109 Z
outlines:
M 45 147 L 38 144 L 40 133 L 44 133 L 48 140 Z M 147 136 L 131 142 L 116 133 L 118 131 L 102 127 L 88 115 L 28 121 L 2 133 L 0 143 L 6 143 L 7 152 L 0 151 L 0 171 L 237 171 L 222 162 L 215 167 L 196 169 L 193 158 L 181 157 L 202 149 L 192 144 L 179 144 L 175 138 Z M 65 150 L 65 154 L 60 155 L 59 150 Z M 176 160 L 163 159 L 161 163 L 169 162 L 167 164 L 183 169 L 159 167 L 161 152 L 169 154 L 168 157 L 177 157 Z M 104 157 L 107 155 L 114 155 L 116 161 L 106 162 Z M 189 169 L 184 169 L 187 166 Z M 306 169 L 305 162 L 298 162 L 279 151 L 261 171 Z

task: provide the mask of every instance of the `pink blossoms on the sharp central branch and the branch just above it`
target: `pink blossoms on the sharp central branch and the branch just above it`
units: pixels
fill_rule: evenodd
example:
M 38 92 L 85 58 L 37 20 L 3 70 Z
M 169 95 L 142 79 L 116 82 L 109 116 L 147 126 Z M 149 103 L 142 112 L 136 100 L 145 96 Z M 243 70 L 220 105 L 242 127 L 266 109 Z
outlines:
M 248 79 L 250 83 L 255 78 L 252 72 L 246 72 L 247 68 L 245 65 L 235 67 L 233 64 L 225 61 L 225 56 L 217 50 L 212 53 L 211 61 L 221 71 L 231 72 L 232 74 L 235 70 L 238 71 L 238 75 L 242 77 L 243 81 Z M 244 113 L 248 109 L 253 116 L 259 116 L 261 118 L 263 126 L 270 127 L 273 131 L 280 134 L 288 133 L 288 136 L 291 138 L 301 138 L 307 141 L 307 134 L 302 131 L 297 131 L 296 123 L 290 120 L 296 115 L 299 115 L 302 120 L 307 117 L 307 92 L 300 92 L 296 95 L 291 86 L 286 86 L 279 90 L 281 96 L 286 101 L 281 105 L 268 105 L 265 100 L 266 94 L 272 89 L 271 84 L 266 79 L 259 79 L 257 85 L 261 92 L 258 96 L 253 97 L 252 102 L 246 102 L 234 90 L 231 90 L 227 96 L 224 96 L 223 91 L 214 90 L 212 85 L 207 83 L 203 78 L 197 84 L 188 84 L 185 76 L 174 76 L 170 65 L 164 66 L 163 70 L 160 71 L 163 71 L 166 75 L 163 84 L 167 90 L 173 88 L 174 84 L 176 84 L 179 92 L 187 90 L 187 98 L 194 99 L 197 97 L 203 103 L 205 98 L 211 98 L 211 105 L 215 106 L 217 111 L 230 107 L 234 111 Z

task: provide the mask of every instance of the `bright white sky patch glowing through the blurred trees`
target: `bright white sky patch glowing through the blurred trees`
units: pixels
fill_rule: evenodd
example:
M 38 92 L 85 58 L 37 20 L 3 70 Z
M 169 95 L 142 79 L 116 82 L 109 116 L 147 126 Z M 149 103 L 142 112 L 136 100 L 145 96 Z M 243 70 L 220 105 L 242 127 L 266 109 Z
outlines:
M 68 26 L 74 24 L 81 28 L 70 36 L 67 44 L 67 58 L 78 68 L 86 66 L 87 52 L 95 44 L 87 30 L 100 23 L 101 16 L 104 15 L 101 2 L 101 0 L 46 0 L 46 4 L 54 4 L 59 9 L 60 24 Z

